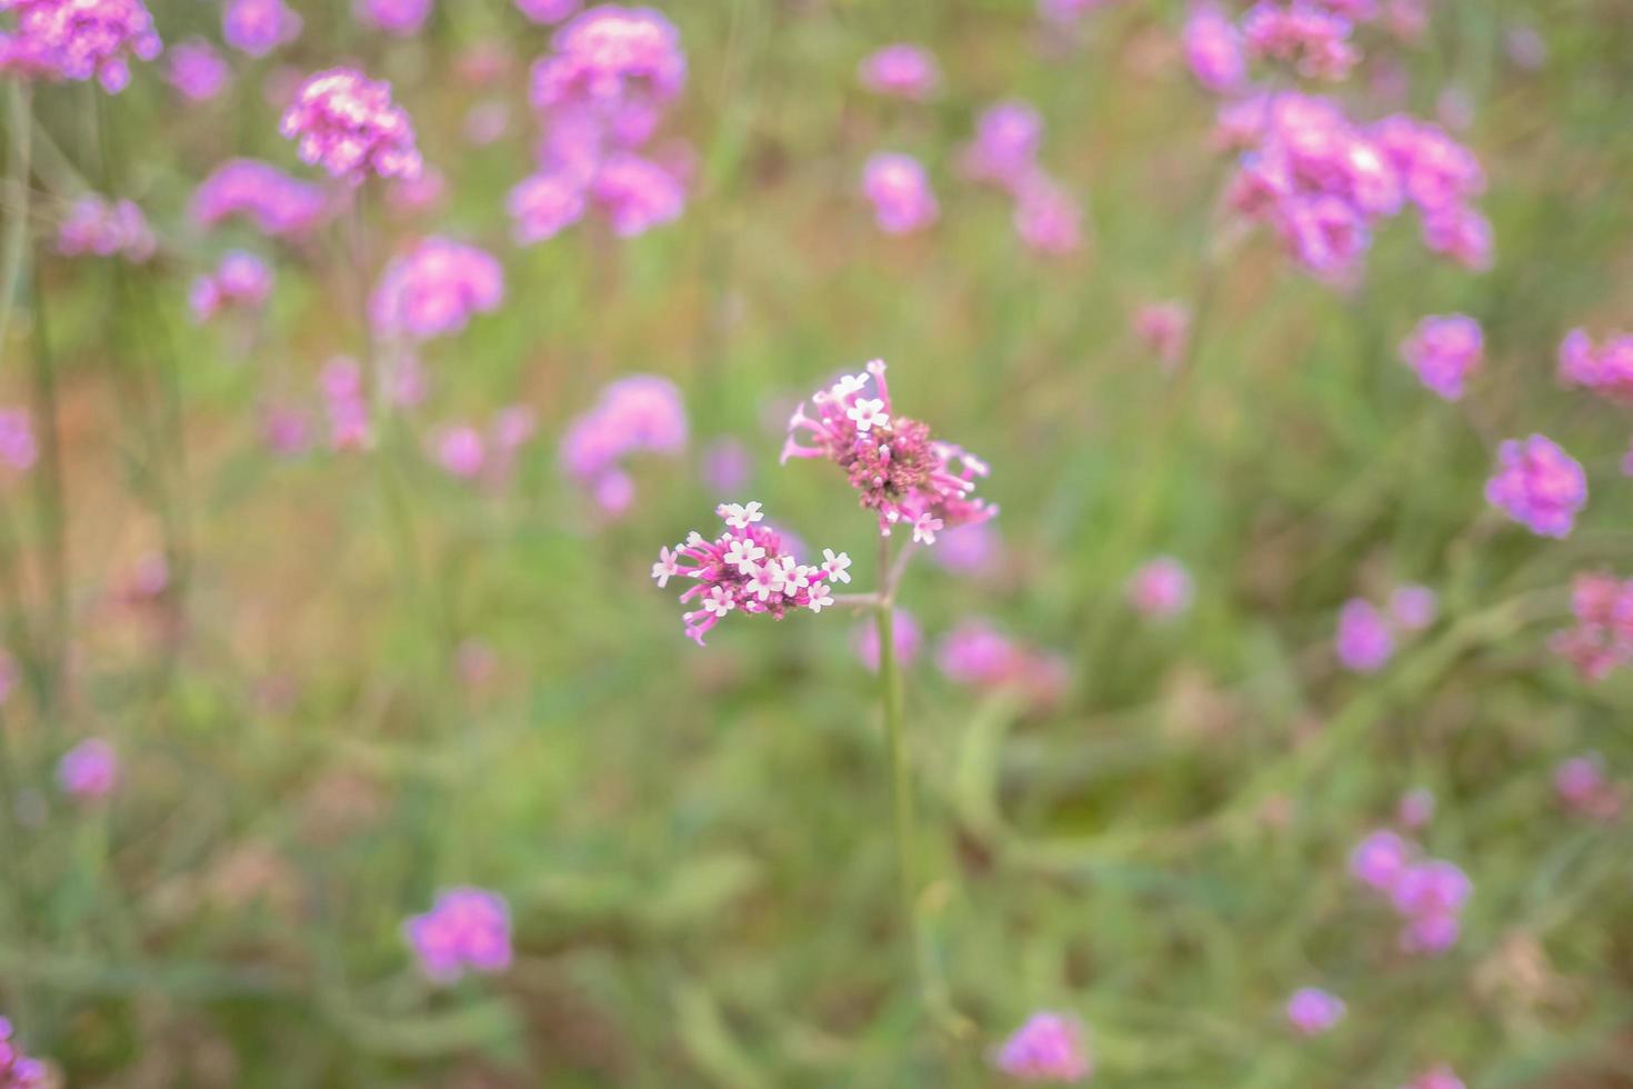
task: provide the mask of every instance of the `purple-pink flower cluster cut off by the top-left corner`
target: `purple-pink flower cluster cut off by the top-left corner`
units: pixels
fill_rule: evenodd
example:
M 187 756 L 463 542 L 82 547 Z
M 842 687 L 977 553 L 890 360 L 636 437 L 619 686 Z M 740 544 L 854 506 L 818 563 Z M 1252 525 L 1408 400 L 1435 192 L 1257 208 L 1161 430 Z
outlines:
M 16 13 L 16 33 L 0 34 L 0 72 L 24 78 L 90 80 L 118 95 L 131 59 L 163 49 L 142 0 L 0 0 Z

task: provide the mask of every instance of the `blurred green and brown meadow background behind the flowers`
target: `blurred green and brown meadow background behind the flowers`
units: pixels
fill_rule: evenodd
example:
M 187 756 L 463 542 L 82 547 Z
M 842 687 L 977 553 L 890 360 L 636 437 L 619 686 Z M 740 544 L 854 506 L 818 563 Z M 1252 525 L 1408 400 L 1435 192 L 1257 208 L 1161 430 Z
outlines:
M 261 57 L 222 42 L 216 0 L 154 0 L 167 52 L 122 93 L 8 83 L 0 405 L 41 446 L 0 483 L 15 1040 L 65 1086 L 999 1086 L 1004 1038 L 1058 1011 L 1106 1086 L 1633 1084 L 1633 684 L 1551 650 L 1573 576 L 1633 576 L 1633 415 L 1555 362 L 1574 327 L 1633 327 L 1633 7 L 1426 0 L 1419 33 L 1359 26 L 1349 78 L 1305 90 L 1466 145 L 1494 264 L 1403 214 L 1337 284 L 1231 212 L 1182 3 L 658 7 L 687 80 L 650 152 L 686 201 L 639 237 L 593 214 L 513 237 L 555 29 L 498 0 L 403 36 L 300 0 Z M 194 36 L 227 65 L 199 101 L 167 78 Z M 893 42 L 932 54 L 921 98 L 859 78 Z M 299 237 L 199 224 L 234 157 L 349 199 L 279 136 L 338 64 L 390 80 L 441 189 L 371 180 Z M 1060 253 L 965 168 L 1011 98 L 1081 216 Z M 879 152 L 923 163 L 932 224 L 880 230 Z M 157 253 L 64 255 L 88 193 L 134 201 Z M 426 340 L 389 438 L 346 449 L 327 367 L 382 351 L 359 271 L 372 291 L 428 235 L 498 258 L 503 302 Z M 229 250 L 269 299 L 198 322 Z M 1445 313 L 1484 330 L 1458 402 L 1399 356 Z M 843 473 L 777 456 L 794 405 L 872 358 L 1001 506 L 898 594 L 918 971 L 869 617 L 735 614 L 699 648 L 648 578 L 756 500 L 870 588 Z M 635 374 L 674 384 L 684 442 L 575 475 L 572 429 Z M 495 469 L 509 407 L 532 431 Z M 1563 540 L 1483 495 L 1532 433 L 1587 473 Z M 1427 624 L 1346 668 L 1344 604 L 1416 586 Z M 972 678 L 972 633 L 1029 668 Z M 91 740 L 111 761 L 70 789 Z M 1471 883 L 1437 955 L 1352 872 L 1388 828 Z M 508 970 L 426 976 L 403 922 L 452 887 L 505 898 Z M 1342 1020 L 1292 1027 L 1300 988 Z

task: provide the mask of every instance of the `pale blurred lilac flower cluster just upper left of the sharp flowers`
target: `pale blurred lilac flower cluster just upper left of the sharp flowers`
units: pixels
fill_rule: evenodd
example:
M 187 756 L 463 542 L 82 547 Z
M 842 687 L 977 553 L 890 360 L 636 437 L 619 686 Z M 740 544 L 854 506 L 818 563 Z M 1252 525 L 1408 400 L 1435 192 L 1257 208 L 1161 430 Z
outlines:
M 619 462 L 630 454 L 686 449 L 686 407 L 674 382 L 635 374 L 612 382 L 590 411 L 567 426 L 562 465 L 607 514 L 622 514 L 635 485 Z

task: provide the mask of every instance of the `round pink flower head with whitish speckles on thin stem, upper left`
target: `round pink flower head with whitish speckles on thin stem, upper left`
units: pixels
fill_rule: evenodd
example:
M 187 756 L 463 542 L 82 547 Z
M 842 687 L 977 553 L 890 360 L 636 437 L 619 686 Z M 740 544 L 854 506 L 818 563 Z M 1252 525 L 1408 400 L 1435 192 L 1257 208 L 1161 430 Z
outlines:
M 318 72 L 300 85 L 279 132 L 299 140 L 300 160 L 361 184 L 369 175 L 413 178 L 423 168 L 408 114 L 392 104 L 390 83 L 356 69 Z

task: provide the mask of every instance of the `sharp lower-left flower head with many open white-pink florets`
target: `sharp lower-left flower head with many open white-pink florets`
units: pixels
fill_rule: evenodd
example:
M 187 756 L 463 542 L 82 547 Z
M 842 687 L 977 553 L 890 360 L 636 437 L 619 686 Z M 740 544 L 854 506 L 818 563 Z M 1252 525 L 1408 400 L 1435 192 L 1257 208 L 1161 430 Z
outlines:
M 692 580 L 681 594 L 686 604 L 697 599 L 699 609 L 681 614 L 686 620 L 686 637 L 704 645 L 704 635 L 725 619 L 728 612 L 769 614 L 774 620 L 789 609 L 821 612 L 833 604 L 828 585 L 833 580 L 851 581 L 846 568 L 851 557 L 834 555 L 825 563 L 800 563 L 787 549 L 782 536 L 759 524 L 764 514 L 759 503 L 722 503 L 715 514 L 725 522 L 725 532 L 707 540 L 692 532 L 683 544 L 658 552 L 652 565 L 652 578 L 658 586 L 668 586 L 674 576 Z M 689 560 L 691 567 L 681 567 Z

